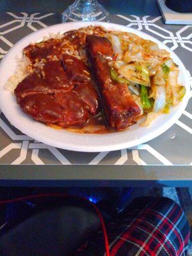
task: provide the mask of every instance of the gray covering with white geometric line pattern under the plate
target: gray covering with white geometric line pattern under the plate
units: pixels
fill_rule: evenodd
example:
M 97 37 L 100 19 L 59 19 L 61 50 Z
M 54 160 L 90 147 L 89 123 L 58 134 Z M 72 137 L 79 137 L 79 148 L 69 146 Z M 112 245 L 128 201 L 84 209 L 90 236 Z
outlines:
M 192 89 L 192 26 L 165 25 L 161 16 L 113 15 L 112 21 L 144 31 L 170 47 L 188 69 Z M 22 37 L 60 22 L 60 15 L 54 13 L 1 13 L 0 58 Z M 1 113 L 0 164 L 192 165 L 191 134 L 192 99 L 168 131 L 148 143 L 113 152 L 72 152 L 39 143 L 15 129 Z

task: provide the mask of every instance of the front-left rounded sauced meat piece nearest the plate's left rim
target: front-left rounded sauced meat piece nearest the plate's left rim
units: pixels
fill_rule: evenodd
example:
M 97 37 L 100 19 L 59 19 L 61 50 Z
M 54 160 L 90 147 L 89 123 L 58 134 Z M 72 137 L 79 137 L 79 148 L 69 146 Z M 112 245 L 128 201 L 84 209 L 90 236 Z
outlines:
M 47 94 L 27 95 L 20 100 L 19 104 L 24 112 L 39 122 L 55 124 L 63 120 L 63 107 Z

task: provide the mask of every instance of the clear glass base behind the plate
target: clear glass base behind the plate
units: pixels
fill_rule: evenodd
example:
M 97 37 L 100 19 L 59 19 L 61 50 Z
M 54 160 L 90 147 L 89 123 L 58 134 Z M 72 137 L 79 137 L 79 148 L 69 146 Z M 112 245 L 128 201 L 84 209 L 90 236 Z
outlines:
M 110 15 L 97 0 L 76 0 L 62 13 L 62 21 L 106 21 Z

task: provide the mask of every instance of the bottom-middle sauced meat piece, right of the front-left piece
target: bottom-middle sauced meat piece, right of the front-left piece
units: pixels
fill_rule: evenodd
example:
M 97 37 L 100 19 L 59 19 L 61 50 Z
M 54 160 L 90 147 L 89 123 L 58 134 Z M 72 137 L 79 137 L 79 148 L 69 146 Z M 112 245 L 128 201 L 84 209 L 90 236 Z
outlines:
M 77 92 L 56 93 L 54 100 L 63 107 L 63 127 L 81 127 L 88 120 L 88 110 Z

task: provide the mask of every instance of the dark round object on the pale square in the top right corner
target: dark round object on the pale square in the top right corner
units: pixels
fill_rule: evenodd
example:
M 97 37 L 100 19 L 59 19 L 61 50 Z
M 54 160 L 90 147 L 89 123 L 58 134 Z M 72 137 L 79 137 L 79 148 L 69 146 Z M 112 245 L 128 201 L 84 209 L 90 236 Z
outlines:
M 165 4 L 175 12 L 192 12 L 192 0 L 166 0 Z

